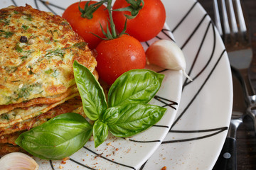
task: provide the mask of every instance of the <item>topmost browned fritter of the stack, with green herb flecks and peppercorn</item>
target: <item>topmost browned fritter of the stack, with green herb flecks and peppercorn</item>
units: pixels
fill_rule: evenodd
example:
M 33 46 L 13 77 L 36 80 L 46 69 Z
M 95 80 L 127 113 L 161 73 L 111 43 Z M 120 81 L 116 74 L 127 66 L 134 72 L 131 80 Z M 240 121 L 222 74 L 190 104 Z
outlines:
M 64 93 L 75 84 L 74 60 L 95 69 L 86 42 L 65 19 L 29 5 L 0 10 L 0 105 Z

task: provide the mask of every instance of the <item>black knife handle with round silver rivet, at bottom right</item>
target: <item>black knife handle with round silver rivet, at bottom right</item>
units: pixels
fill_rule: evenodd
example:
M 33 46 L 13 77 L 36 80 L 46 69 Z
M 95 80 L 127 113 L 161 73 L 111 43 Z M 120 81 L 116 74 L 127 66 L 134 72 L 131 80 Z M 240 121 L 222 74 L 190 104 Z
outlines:
M 220 152 L 213 170 L 236 170 L 237 155 L 236 155 L 236 140 L 232 137 L 227 137 Z

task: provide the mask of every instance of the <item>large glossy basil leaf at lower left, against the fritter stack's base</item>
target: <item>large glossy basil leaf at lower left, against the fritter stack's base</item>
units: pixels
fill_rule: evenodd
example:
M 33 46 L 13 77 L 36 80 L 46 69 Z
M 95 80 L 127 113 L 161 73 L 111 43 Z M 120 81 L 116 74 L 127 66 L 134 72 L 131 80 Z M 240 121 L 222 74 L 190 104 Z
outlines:
M 78 113 L 65 113 L 23 132 L 15 141 L 41 159 L 63 159 L 77 152 L 92 136 L 92 125 Z

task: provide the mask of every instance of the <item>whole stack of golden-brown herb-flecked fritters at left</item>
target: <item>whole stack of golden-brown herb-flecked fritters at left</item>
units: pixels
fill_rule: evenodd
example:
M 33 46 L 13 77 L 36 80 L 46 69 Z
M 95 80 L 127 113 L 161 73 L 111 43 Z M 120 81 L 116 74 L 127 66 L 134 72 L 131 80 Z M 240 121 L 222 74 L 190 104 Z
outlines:
M 19 151 L 14 141 L 24 130 L 83 115 L 74 60 L 95 73 L 95 57 L 63 18 L 28 5 L 0 10 L 0 154 Z

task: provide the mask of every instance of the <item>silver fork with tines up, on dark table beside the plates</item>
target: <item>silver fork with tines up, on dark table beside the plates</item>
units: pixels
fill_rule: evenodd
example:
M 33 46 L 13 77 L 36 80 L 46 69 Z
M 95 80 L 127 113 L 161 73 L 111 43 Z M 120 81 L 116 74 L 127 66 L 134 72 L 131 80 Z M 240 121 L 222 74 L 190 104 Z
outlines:
M 220 10 L 218 6 L 221 6 Z M 236 76 L 242 81 L 247 103 L 246 113 L 253 120 L 254 135 L 256 135 L 256 95 L 249 75 L 252 48 L 240 0 L 220 0 L 220 5 L 218 5 L 218 0 L 213 0 L 213 9 L 215 26 L 225 43 L 230 65 L 238 70 Z M 222 18 L 220 18 L 220 13 Z

